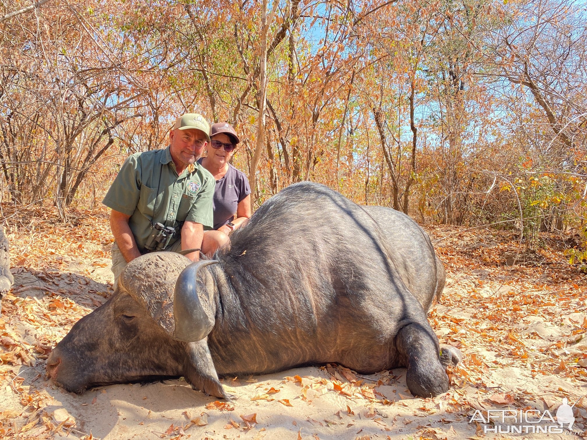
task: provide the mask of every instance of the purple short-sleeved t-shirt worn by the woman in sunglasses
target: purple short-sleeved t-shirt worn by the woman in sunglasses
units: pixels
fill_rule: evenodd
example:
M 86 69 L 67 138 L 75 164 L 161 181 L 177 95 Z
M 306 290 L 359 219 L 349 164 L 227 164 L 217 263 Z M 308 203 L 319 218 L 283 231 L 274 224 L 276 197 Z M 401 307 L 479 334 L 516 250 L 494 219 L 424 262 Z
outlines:
M 198 160 L 198 164 L 202 163 Z M 214 209 L 214 229 L 224 226 L 232 220 L 237 212 L 237 205 L 242 199 L 251 194 L 249 180 L 242 171 L 228 164 L 228 171 L 220 180 L 216 181 L 212 208 Z

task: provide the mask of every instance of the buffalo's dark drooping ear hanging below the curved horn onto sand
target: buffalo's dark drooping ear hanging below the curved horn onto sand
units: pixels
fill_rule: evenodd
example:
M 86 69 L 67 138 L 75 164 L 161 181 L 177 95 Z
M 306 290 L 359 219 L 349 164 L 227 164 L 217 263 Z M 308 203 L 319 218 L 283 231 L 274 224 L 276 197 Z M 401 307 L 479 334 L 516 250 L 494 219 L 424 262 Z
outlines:
M 218 381 L 207 338 L 196 342 L 186 342 L 184 345 L 187 354 L 184 364 L 185 381 L 205 394 L 228 399 L 230 396 L 224 392 Z

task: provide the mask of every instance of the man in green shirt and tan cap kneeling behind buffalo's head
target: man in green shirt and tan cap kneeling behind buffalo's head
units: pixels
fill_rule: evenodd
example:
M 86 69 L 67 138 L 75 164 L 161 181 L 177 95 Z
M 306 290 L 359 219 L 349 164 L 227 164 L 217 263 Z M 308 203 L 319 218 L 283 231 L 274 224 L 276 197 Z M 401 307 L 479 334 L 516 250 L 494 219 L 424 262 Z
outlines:
M 157 223 L 174 228 L 164 251 L 205 249 L 204 229 L 212 229 L 214 177 L 196 161 L 210 141 L 210 126 L 197 113 L 178 117 L 164 150 L 145 151 L 124 161 L 102 203 L 112 208 L 114 290 L 127 263 L 149 252 Z M 187 253 L 191 260 L 198 251 Z

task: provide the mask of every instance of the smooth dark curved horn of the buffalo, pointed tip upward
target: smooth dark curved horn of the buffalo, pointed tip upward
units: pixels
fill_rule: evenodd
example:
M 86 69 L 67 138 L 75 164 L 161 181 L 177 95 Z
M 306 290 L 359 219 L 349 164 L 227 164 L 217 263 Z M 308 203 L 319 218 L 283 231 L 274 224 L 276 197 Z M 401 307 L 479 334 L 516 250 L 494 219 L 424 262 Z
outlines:
M 204 339 L 214 327 L 214 313 L 210 308 L 207 292 L 198 296 L 196 279 L 198 270 L 218 263 L 217 260 L 202 260 L 191 263 L 177 278 L 173 296 L 175 330 L 173 338 L 193 342 Z

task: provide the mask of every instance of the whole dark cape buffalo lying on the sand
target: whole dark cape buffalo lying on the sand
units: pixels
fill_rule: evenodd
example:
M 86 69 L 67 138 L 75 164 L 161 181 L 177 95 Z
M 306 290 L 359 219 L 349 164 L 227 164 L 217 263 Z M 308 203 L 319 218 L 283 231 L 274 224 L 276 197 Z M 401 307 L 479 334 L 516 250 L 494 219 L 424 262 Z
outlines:
M 444 269 L 406 215 L 303 182 L 265 202 L 215 258 L 130 262 L 118 292 L 53 350 L 50 377 L 82 392 L 184 376 L 227 397 L 219 375 L 339 363 L 363 374 L 407 367 L 414 395 L 448 390 L 459 353 L 439 356 L 425 311 Z

